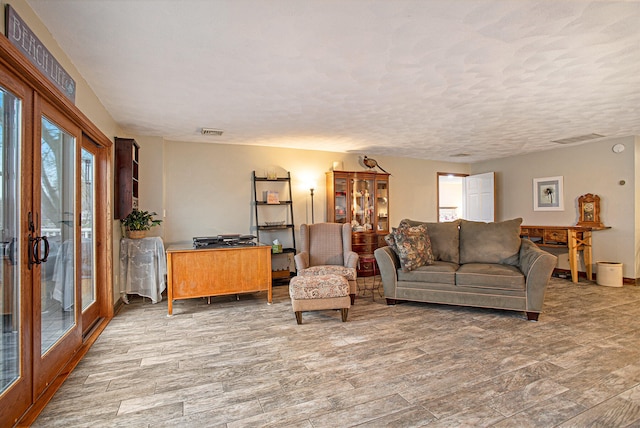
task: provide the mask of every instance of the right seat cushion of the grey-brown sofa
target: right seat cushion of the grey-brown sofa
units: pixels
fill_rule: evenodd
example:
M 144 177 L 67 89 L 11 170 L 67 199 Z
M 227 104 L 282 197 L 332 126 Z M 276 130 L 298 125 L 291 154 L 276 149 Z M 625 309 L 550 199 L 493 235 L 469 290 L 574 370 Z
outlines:
M 498 290 L 524 290 L 525 278 L 515 266 L 468 263 L 461 265 L 456 272 L 456 285 Z

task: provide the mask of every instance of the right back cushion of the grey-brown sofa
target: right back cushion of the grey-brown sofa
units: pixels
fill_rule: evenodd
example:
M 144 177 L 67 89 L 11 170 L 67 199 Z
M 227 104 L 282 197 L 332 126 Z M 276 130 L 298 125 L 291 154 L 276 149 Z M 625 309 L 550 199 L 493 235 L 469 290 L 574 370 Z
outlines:
M 521 218 L 497 223 L 460 221 L 460 264 L 518 264 Z

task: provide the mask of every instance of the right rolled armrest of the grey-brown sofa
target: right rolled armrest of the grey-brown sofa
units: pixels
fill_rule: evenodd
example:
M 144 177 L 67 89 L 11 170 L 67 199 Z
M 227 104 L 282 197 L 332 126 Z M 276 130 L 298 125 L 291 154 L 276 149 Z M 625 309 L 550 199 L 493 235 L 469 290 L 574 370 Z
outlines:
M 526 278 L 527 312 L 541 312 L 544 293 L 558 258 L 528 239 L 520 244 L 520 270 Z

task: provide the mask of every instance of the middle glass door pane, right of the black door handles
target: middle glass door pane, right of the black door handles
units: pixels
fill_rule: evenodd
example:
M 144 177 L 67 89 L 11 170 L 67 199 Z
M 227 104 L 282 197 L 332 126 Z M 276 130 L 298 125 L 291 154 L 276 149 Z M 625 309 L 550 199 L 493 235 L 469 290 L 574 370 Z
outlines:
M 42 117 L 40 224 L 49 243 L 40 282 L 42 355 L 76 323 L 75 142 Z

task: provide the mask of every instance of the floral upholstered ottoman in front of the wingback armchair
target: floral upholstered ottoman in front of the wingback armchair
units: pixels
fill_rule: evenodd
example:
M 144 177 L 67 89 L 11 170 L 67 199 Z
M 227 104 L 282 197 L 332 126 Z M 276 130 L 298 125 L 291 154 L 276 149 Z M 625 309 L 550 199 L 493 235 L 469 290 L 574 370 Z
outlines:
M 342 322 L 347 321 L 351 307 L 349 281 L 342 275 L 294 276 L 289 281 L 291 306 L 298 324 L 303 311 L 340 309 Z

